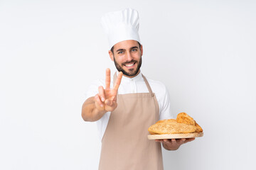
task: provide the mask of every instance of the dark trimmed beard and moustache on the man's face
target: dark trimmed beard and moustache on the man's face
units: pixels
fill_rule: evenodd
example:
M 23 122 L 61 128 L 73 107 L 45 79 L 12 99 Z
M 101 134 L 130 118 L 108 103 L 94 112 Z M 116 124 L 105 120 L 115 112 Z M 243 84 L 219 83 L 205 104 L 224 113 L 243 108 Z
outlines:
M 137 62 L 137 61 L 136 60 L 131 60 L 129 62 L 122 63 L 122 65 L 130 63 L 130 62 Z M 117 68 L 118 72 L 122 72 L 127 77 L 134 77 L 135 75 L 137 75 L 137 73 L 139 72 L 140 67 L 142 66 L 142 56 L 139 59 L 139 63 L 138 63 L 137 68 L 135 68 L 135 69 L 128 69 L 128 72 L 124 71 L 124 69 L 122 69 L 122 67 L 116 62 L 115 59 L 114 59 L 114 65 Z

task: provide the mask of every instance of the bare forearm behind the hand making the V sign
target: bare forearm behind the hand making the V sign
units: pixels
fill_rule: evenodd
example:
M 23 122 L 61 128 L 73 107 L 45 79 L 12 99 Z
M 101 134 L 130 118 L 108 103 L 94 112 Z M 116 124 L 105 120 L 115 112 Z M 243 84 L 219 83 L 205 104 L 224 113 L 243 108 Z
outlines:
M 85 121 L 94 122 L 99 120 L 106 112 L 104 108 L 101 111 L 96 108 L 94 97 L 88 98 L 82 105 L 82 119 Z

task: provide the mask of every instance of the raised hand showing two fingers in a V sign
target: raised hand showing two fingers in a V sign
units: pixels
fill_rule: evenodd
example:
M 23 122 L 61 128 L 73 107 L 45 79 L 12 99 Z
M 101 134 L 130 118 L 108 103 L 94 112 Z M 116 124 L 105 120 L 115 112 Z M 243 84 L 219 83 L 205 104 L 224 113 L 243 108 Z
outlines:
M 117 81 L 110 89 L 110 69 L 106 69 L 106 87 L 99 86 L 99 93 L 95 96 L 95 106 L 99 111 L 114 111 L 117 108 L 117 90 L 121 83 L 122 72 L 119 72 Z

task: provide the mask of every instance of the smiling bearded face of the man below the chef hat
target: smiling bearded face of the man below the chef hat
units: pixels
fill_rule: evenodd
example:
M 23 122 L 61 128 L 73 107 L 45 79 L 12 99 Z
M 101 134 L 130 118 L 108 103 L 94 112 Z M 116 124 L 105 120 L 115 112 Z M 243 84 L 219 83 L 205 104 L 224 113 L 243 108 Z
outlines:
M 114 45 L 113 52 L 114 54 L 109 51 L 110 58 L 119 72 L 130 78 L 139 74 L 139 69 L 142 66 L 142 45 L 139 48 L 139 43 L 136 40 L 124 40 Z

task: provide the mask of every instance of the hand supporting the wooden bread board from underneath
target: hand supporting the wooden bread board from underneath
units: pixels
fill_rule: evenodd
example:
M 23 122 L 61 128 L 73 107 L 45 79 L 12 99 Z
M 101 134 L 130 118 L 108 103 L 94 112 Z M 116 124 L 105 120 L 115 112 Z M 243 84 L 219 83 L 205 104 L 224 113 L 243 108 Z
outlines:
M 164 139 L 164 140 L 156 140 L 156 142 L 161 142 L 163 147 L 167 150 L 176 150 L 178 147 L 183 145 L 186 142 L 191 142 L 195 140 L 195 138 L 182 138 L 182 139 Z

